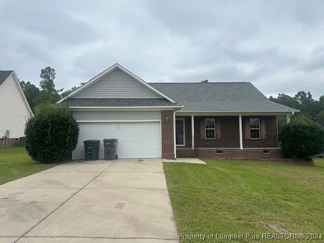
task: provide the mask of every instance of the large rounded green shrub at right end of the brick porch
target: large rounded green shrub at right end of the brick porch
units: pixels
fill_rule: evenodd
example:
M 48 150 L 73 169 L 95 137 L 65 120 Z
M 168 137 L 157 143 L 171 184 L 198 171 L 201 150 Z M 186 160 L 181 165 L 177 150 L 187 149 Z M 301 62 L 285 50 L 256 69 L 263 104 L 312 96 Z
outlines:
M 324 128 L 307 117 L 294 117 L 280 137 L 286 157 L 309 158 L 324 151 Z

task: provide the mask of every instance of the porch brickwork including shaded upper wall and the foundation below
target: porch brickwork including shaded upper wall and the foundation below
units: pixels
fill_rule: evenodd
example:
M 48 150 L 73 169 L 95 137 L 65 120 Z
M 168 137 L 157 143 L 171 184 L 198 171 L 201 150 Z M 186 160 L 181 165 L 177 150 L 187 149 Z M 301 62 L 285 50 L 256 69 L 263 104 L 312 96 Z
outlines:
M 178 117 L 177 117 L 178 118 Z M 196 157 L 195 151 L 191 149 L 191 116 L 185 118 L 185 147 L 177 147 L 177 157 Z M 215 139 L 201 138 L 200 127 L 205 124 L 205 118 L 214 118 L 220 123 L 220 137 Z M 246 122 L 250 118 L 260 118 L 264 120 L 265 137 L 251 139 L 246 137 Z M 204 126 L 203 126 L 204 127 Z M 249 127 L 247 128 L 249 129 Z M 261 132 L 261 131 L 260 131 Z M 205 131 L 202 131 L 205 134 Z M 243 148 L 239 149 L 239 121 L 238 116 L 194 116 L 194 137 L 198 145 L 198 157 L 219 158 L 219 159 L 257 159 L 271 160 L 283 159 L 281 149 L 278 148 L 277 141 L 277 120 L 276 116 L 242 116 L 242 137 Z M 216 150 L 222 150 L 222 154 L 217 154 Z M 269 150 L 269 154 L 264 153 Z

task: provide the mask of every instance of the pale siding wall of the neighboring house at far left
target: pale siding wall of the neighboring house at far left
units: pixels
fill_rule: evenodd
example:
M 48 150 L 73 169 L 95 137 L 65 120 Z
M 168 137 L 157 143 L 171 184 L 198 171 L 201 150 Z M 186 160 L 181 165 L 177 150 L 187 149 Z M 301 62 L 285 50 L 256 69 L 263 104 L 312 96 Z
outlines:
M 10 138 L 24 136 L 29 110 L 12 73 L 0 86 L 0 137 L 10 130 Z

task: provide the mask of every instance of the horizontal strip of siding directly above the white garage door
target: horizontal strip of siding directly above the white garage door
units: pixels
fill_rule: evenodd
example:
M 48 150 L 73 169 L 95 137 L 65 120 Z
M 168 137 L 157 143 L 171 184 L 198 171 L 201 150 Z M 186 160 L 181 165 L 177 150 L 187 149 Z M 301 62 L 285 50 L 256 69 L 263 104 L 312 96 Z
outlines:
M 76 121 L 145 121 L 160 116 L 160 111 L 73 111 Z

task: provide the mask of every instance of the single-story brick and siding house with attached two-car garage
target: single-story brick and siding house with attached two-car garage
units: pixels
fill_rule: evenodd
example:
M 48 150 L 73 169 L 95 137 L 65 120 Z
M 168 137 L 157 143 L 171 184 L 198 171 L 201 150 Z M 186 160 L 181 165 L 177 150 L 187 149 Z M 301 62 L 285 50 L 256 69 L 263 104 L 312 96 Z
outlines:
M 277 116 L 296 109 L 267 99 L 251 83 L 145 83 L 119 64 L 66 99 L 84 140 L 117 138 L 119 158 L 281 158 Z

